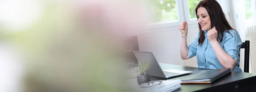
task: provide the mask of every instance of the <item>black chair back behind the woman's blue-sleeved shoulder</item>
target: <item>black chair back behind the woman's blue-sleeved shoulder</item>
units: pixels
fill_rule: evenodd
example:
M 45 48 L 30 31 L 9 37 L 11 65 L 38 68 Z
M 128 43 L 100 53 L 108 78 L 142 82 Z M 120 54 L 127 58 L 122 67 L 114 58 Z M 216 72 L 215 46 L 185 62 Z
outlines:
M 244 49 L 244 72 L 249 72 L 250 40 L 245 40 L 245 42 L 243 42 L 240 49 Z M 239 57 L 240 57 L 240 54 L 239 54 Z

